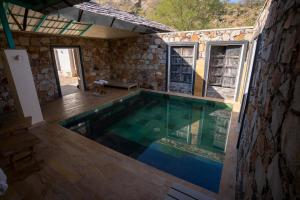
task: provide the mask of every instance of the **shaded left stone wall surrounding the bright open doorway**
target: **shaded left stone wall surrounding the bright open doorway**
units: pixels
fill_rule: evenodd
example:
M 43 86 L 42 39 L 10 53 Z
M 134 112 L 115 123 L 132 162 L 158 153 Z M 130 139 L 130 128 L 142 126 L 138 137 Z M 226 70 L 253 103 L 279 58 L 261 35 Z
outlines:
M 109 78 L 109 45 L 107 40 L 57 35 L 15 32 L 16 48 L 27 49 L 36 90 L 41 104 L 58 97 L 51 46 L 80 46 L 85 81 L 88 87 L 96 79 Z M 0 48 L 7 48 L 4 33 L 0 32 Z M 14 109 L 0 62 L 0 113 Z

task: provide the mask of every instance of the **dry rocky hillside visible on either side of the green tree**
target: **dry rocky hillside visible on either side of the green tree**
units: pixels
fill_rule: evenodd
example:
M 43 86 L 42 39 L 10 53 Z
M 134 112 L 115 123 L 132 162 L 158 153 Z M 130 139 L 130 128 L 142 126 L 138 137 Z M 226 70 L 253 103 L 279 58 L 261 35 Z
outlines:
M 151 12 L 160 0 L 95 0 L 133 14 L 151 19 Z M 241 4 L 224 5 L 224 12 L 211 22 L 209 28 L 230 28 L 239 26 L 252 26 L 258 17 L 261 6 L 246 6 Z M 159 21 L 159 20 L 156 20 Z M 168 24 L 166 24 L 168 25 Z

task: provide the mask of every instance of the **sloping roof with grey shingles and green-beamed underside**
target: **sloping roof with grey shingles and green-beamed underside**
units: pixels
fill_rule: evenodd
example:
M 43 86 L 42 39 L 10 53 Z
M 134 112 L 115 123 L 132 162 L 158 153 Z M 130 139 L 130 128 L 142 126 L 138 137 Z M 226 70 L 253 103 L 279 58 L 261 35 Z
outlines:
M 99 27 L 147 34 L 173 29 L 88 0 L 0 0 L 0 28 L 14 48 L 11 31 L 85 36 Z M 99 29 L 98 29 L 99 30 Z

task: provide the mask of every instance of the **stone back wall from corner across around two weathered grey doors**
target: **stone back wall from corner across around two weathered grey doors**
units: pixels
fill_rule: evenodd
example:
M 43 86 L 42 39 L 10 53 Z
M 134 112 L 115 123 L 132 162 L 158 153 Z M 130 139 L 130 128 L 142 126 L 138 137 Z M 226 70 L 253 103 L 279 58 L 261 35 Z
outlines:
M 110 41 L 111 79 L 137 81 L 142 87 L 166 90 L 167 43 L 198 43 L 194 94 L 202 95 L 206 42 L 249 41 L 251 27 L 151 34 Z

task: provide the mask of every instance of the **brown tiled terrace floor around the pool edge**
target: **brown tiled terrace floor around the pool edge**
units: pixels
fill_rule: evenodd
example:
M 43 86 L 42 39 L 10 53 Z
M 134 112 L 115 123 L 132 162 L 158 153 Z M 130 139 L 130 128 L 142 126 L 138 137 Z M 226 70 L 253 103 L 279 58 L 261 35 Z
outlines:
M 218 195 L 74 134 L 57 123 L 126 94 L 127 90 L 119 89 L 108 89 L 103 96 L 74 93 L 43 107 L 45 123 L 30 130 L 42 141 L 37 148 L 42 169 L 11 183 L 3 199 L 164 199 L 174 183 L 213 199 L 234 199 L 237 113 L 231 120 Z

